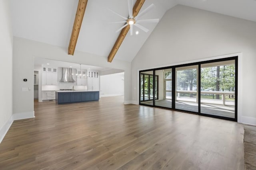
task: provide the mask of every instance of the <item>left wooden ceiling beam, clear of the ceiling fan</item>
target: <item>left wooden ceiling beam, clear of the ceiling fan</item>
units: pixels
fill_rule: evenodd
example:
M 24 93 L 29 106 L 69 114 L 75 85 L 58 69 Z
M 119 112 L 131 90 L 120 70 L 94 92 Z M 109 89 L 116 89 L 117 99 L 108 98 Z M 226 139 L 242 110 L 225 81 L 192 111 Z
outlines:
M 86 9 L 88 0 L 79 0 L 77 10 L 76 10 L 76 18 L 74 21 L 70 41 L 69 41 L 69 46 L 68 46 L 68 54 L 69 55 L 74 55 L 74 51 L 76 48 L 76 42 L 78 39 L 79 31 L 82 25 L 82 21 L 84 18 L 84 13 Z

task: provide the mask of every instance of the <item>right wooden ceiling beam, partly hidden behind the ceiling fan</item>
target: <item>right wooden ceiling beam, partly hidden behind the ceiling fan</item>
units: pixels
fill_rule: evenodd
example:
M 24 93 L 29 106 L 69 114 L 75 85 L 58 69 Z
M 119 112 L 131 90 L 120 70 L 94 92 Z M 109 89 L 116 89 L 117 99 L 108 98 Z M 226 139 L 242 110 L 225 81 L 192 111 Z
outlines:
M 133 10 L 132 10 L 133 17 L 136 17 L 138 15 L 144 2 L 145 2 L 145 0 L 137 0 L 136 1 L 136 3 L 134 4 Z M 119 34 L 119 36 L 116 40 L 116 43 L 114 44 L 114 47 L 112 48 L 112 50 L 110 51 L 110 54 L 108 55 L 108 62 L 111 63 L 112 60 L 114 59 L 116 52 L 118 51 L 119 47 L 121 46 L 122 42 L 124 41 L 124 37 L 128 33 L 129 29 L 130 29 L 130 25 L 127 25 L 126 27 L 124 27 L 122 29 L 121 33 Z

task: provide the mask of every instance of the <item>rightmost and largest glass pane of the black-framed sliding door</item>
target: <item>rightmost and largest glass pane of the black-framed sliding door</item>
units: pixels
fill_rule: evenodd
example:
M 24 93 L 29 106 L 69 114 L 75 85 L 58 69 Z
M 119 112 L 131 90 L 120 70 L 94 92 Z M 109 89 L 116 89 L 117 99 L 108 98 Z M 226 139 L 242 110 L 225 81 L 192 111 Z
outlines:
M 235 60 L 201 65 L 201 113 L 235 118 Z

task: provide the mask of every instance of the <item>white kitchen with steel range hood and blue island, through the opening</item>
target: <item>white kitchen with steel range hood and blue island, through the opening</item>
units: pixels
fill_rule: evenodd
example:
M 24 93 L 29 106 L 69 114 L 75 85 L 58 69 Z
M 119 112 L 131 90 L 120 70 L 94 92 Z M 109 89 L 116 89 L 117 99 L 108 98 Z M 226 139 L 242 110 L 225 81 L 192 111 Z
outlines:
M 34 68 L 34 102 L 55 100 L 56 104 L 98 101 L 99 72 L 107 69 L 40 58 Z

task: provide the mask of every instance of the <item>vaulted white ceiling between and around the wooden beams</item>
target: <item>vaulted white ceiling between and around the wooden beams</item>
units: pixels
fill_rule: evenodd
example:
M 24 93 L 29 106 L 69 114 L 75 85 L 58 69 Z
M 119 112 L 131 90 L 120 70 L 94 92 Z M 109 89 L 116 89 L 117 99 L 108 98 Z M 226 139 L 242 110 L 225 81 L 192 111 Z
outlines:
M 136 0 L 133 0 L 135 3 Z M 78 0 L 11 0 L 13 35 L 67 48 L 76 14 Z M 142 10 L 150 4 L 156 7 L 141 19 L 162 18 L 164 13 L 182 4 L 237 18 L 256 21 L 256 0 L 146 0 Z M 127 0 L 88 0 L 76 50 L 107 57 L 119 35 L 116 30 L 123 21 L 108 8 L 128 17 Z M 126 35 L 114 58 L 132 61 L 157 23 L 141 23 L 148 33 Z M 75 51 L 76 53 L 76 51 Z M 74 55 L 75 55 L 74 53 Z

